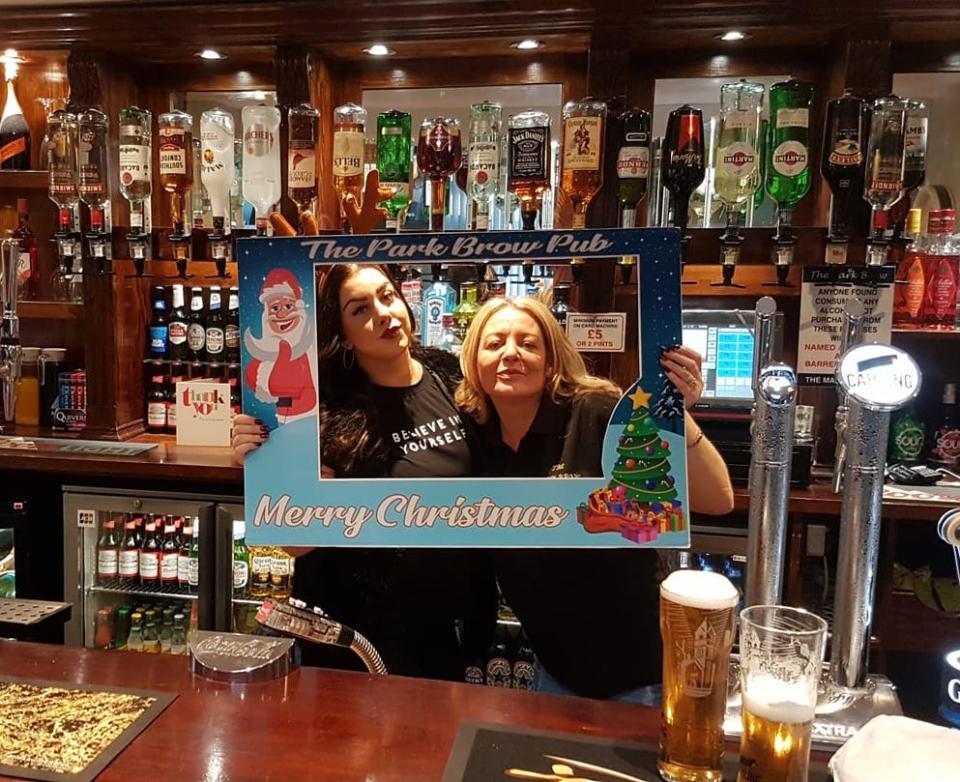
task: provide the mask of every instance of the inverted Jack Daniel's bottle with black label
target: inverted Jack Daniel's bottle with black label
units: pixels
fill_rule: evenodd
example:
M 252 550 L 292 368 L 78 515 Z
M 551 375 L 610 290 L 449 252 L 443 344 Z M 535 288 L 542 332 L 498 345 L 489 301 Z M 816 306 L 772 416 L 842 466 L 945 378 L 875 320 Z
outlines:
M 524 111 L 509 119 L 507 188 L 520 201 L 520 220 L 533 230 L 550 189 L 550 116 Z

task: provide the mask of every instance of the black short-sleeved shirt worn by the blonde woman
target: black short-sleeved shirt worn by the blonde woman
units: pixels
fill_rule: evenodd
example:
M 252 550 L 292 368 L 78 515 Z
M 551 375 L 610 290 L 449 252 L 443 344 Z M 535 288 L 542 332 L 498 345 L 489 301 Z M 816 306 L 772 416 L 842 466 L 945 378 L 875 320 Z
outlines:
M 601 476 L 603 436 L 617 400 L 599 394 L 544 401 L 514 452 L 493 416 L 484 472 L 510 477 Z M 503 549 L 504 598 L 543 666 L 580 695 L 607 698 L 659 682 L 658 557 L 644 549 Z

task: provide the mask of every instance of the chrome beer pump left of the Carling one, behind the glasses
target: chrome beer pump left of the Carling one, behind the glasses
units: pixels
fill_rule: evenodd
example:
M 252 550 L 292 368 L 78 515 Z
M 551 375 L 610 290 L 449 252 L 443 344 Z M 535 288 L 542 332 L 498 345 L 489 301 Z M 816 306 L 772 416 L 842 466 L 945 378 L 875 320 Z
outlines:
M 797 376 L 774 358 L 777 305 L 764 296 L 754 318 L 753 423 L 747 524 L 746 604 L 780 603 L 787 542 Z

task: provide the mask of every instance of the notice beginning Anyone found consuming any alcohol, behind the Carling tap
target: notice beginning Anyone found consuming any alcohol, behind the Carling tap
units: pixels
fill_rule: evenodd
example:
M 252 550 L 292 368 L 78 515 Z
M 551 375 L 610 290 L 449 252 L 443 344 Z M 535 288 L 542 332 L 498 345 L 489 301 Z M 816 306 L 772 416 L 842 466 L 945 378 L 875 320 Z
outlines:
M 863 341 L 890 341 L 894 266 L 806 266 L 800 290 L 797 375 L 801 385 L 834 385 L 843 308 L 863 302 Z

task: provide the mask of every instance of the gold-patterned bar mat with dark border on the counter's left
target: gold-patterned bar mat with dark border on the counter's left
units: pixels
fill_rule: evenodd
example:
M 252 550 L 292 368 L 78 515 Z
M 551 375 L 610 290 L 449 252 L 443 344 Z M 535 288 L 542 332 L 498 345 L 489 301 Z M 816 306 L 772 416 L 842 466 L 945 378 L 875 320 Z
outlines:
M 5 676 L 0 679 L 0 775 L 88 782 L 176 697 Z

